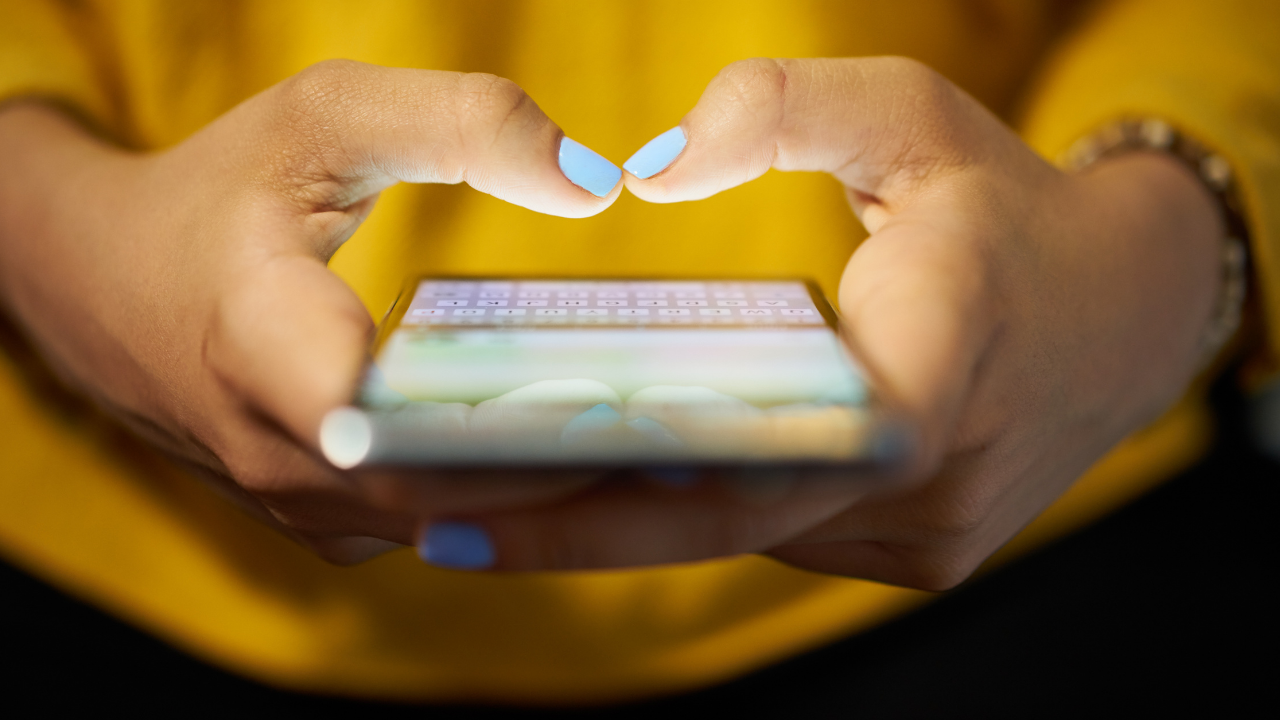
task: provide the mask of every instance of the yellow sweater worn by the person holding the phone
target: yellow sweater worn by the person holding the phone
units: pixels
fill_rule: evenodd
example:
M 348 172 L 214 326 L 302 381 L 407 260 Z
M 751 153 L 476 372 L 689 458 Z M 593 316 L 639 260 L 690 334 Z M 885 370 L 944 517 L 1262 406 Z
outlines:
M 1075 8 L 1076 4 L 1068 4 Z M 0 100 L 51 97 L 154 149 L 326 58 L 484 70 L 620 163 L 749 56 L 924 60 L 1050 156 L 1125 114 L 1224 151 L 1243 179 L 1263 316 L 1280 310 L 1280 6 L 1119 0 L 5 0 Z M 701 202 L 623 196 L 585 220 L 467 187 L 399 186 L 332 266 L 375 316 L 406 274 L 809 275 L 833 295 L 863 231 L 842 190 L 769 173 Z M 3 241 L 3 238 L 0 238 Z M 1275 337 L 1267 343 L 1276 347 Z M 374 697 L 591 702 L 675 692 L 833 641 L 932 596 L 760 557 L 484 575 L 408 551 L 339 569 L 242 516 L 0 355 L 0 553 L 211 662 Z M 1194 461 L 1202 392 L 1126 441 L 992 562 Z

